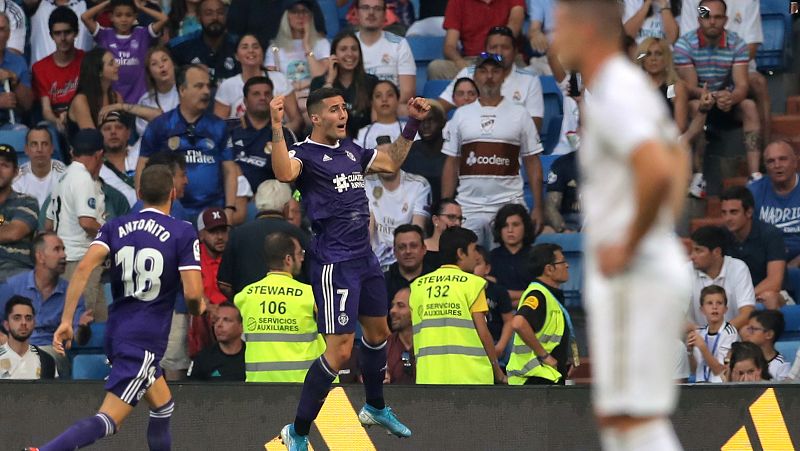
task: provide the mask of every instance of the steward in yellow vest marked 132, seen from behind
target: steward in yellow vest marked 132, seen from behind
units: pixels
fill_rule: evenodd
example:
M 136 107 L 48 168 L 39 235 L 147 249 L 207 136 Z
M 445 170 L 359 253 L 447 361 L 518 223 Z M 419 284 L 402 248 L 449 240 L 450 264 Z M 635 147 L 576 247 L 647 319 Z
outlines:
M 504 382 L 486 325 L 486 281 L 470 274 L 478 237 L 450 227 L 439 240 L 443 265 L 411 283 L 411 323 L 418 384 Z

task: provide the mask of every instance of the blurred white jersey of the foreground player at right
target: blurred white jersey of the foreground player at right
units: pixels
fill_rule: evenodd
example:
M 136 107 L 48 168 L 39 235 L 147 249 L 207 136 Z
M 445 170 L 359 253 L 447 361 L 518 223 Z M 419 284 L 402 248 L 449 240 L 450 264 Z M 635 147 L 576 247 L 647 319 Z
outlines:
M 678 130 L 644 71 L 621 53 L 599 68 L 589 89 L 592 101 L 583 109 L 579 160 L 586 250 L 593 256 L 598 245 L 618 243 L 633 221 L 633 152 L 648 141 L 674 143 Z M 662 205 L 636 257 L 663 259 L 665 249 L 679 255 L 673 223 L 670 208 Z

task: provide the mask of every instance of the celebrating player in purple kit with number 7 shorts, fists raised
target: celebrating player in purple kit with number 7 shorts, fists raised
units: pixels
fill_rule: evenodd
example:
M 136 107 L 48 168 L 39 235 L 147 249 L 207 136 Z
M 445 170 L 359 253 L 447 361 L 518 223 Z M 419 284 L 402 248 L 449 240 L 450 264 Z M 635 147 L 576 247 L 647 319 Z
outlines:
M 311 286 L 317 303 L 317 324 L 327 348 L 309 368 L 297 416 L 281 430 L 289 451 L 308 449 L 308 432 L 336 378 L 350 359 L 356 321 L 361 323 L 359 363 L 366 405 L 358 414 L 365 426 L 379 425 L 398 437 L 410 437 L 383 399 L 386 373 L 386 285 L 369 244 L 369 202 L 364 176 L 393 173 L 403 164 L 420 122 L 430 106 L 422 98 L 408 102 L 409 121 L 386 150 L 362 149 L 347 137 L 347 108 L 342 94 L 321 88 L 309 95 L 313 129 L 291 150 L 283 138 L 283 97 L 270 102 L 272 169 L 281 182 L 295 182 L 311 219 L 314 237 L 309 249 Z

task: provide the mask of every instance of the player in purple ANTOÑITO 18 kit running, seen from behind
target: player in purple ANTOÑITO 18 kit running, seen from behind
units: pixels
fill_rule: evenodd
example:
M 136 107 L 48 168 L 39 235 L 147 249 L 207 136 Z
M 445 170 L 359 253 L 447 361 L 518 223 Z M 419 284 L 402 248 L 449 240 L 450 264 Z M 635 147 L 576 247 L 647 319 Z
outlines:
M 169 216 L 175 199 L 172 173 L 165 165 L 142 172 L 139 197 L 144 209 L 104 224 L 81 260 L 67 289 L 61 325 L 53 335 L 56 352 L 72 340 L 72 319 L 78 297 L 91 271 L 111 260 L 111 290 L 105 352 L 112 364 L 106 397 L 98 413 L 85 418 L 50 443 L 29 451 L 74 450 L 116 433 L 144 397 L 150 406 L 147 443 L 151 450 L 169 450 L 172 394 L 161 374 L 175 295 L 183 293 L 192 314 L 205 310 L 200 275 L 200 247 L 188 222 Z

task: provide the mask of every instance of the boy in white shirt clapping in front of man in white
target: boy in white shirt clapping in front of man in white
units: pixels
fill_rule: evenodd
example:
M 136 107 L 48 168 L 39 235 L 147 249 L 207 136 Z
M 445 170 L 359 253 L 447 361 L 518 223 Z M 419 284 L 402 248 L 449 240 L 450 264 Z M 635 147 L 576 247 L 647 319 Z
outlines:
M 707 324 L 689 332 L 687 345 L 692 352 L 689 364 L 695 373 L 695 382 L 723 382 L 725 359 L 731 345 L 739 341 L 736 328 L 725 321 L 728 296 L 719 285 L 709 285 L 700 292 L 700 311 Z

